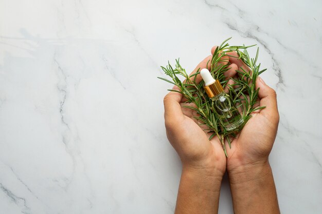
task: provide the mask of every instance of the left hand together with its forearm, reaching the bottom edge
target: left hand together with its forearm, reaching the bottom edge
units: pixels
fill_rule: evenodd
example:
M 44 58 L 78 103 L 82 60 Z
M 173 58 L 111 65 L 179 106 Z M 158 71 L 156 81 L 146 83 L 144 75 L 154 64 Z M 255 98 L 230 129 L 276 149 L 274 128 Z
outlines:
M 198 68 L 206 68 L 209 60 L 211 56 L 206 57 L 192 73 Z M 197 75 L 196 82 L 201 80 Z M 177 87 L 174 89 L 179 90 Z M 217 213 L 220 185 L 226 170 L 222 146 L 216 137 L 208 140 L 210 135 L 193 118 L 196 113 L 184 107 L 188 104 L 182 94 L 170 92 L 164 98 L 164 105 L 167 137 L 183 164 L 175 213 Z

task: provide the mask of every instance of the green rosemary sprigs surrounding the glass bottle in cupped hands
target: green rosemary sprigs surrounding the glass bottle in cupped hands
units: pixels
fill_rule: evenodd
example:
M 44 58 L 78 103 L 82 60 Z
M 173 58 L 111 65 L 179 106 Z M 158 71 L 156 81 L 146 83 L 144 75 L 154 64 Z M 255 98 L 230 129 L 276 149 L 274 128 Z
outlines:
M 227 56 L 231 57 L 231 55 L 229 55 L 230 52 L 236 51 L 238 53 L 239 59 L 243 61 L 248 67 L 248 69 L 241 68 L 240 70 L 237 70 L 238 75 L 231 78 L 231 80 L 234 81 L 234 84 L 228 85 L 228 94 L 231 96 L 236 107 L 241 109 L 241 114 L 244 119 L 244 122 L 239 127 L 239 129 L 227 131 L 225 127 L 221 126 L 217 115 L 212 112 L 212 101 L 208 98 L 203 88 L 204 81 L 201 81 L 200 83 L 196 82 L 196 76 L 200 73 L 200 68 L 194 74 L 188 75 L 186 70 L 180 65 L 178 59 L 175 60 L 174 68 L 170 65 L 169 62 L 166 67 L 161 66 L 162 70 L 171 78 L 171 80 L 167 80 L 163 77 L 158 77 L 161 80 L 176 85 L 180 89 L 168 89 L 169 91 L 181 93 L 187 99 L 186 103 L 195 104 L 195 107 L 185 107 L 190 108 L 198 113 L 199 116 L 195 116 L 194 118 L 199 122 L 199 125 L 208 126 L 208 129 L 205 130 L 211 133 L 209 140 L 211 140 L 214 136 L 218 137 L 226 156 L 227 152 L 225 147 L 225 140 L 228 142 L 228 145 L 230 147 L 230 144 L 236 138 L 238 131 L 240 131 L 247 123 L 247 121 L 252 117 L 252 112 L 264 108 L 255 107 L 255 104 L 258 102 L 259 90 L 255 89 L 255 85 L 257 76 L 266 70 L 260 70 L 260 63 L 257 64 L 259 54 L 258 48 L 255 58 L 251 58 L 248 54 L 247 49 L 255 45 L 229 46 L 227 41 L 230 40 L 230 38 L 225 40 L 219 47 L 216 48 L 212 55 L 211 61 L 209 61 L 207 65 L 210 63 L 211 75 L 214 77 L 214 79 L 218 79 L 223 87 L 225 87 L 228 82 L 228 80 L 225 80 L 225 72 L 229 70 L 228 66 L 230 65 L 230 63 L 227 60 Z M 179 75 L 185 78 L 184 82 L 182 82 L 178 78 Z

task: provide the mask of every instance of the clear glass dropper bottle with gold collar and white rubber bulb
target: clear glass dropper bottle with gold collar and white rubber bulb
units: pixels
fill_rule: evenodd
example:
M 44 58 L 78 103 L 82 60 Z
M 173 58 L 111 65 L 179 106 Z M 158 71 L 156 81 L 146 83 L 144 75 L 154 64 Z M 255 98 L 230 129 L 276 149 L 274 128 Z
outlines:
M 216 113 L 222 126 L 227 131 L 237 129 L 243 123 L 243 118 L 230 96 L 225 93 L 220 82 L 213 79 L 208 69 L 202 69 L 200 74 L 205 82 L 204 89 L 212 101 L 212 110 Z

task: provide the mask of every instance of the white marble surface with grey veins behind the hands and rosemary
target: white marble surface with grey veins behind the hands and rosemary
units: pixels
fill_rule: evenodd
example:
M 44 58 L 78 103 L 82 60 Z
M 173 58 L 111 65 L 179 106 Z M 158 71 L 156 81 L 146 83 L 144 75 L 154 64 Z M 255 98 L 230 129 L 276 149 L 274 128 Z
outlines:
M 258 44 L 282 213 L 322 211 L 321 1 L 0 1 L 0 213 L 173 213 L 160 65 Z M 255 49 L 254 49 L 255 52 Z M 254 54 L 253 52 L 253 54 Z M 220 213 L 232 213 L 225 177 Z

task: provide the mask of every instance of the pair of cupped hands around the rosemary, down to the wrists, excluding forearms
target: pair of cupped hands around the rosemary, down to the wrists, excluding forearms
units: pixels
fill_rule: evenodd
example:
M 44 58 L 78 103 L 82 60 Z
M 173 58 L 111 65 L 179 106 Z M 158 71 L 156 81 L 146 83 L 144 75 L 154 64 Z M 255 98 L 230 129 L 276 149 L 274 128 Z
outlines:
M 212 48 L 211 52 L 216 49 Z M 229 53 L 229 70 L 225 72 L 226 79 L 237 75 L 236 70 L 249 70 L 249 68 L 238 58 L 236 52 Z M 206 57 L 191 73 L 199 68 L 206 68 L 211 56 Z M 196 76 L 196 82 L 201 81 L 201 76 Z M 232 84 L 229 81 L 228 84 Z M 215 169 L 220 173 L 225 170 L 233 171 L 257 164 L 266 164 L 270 151 L 273 147 L 279 122 L 277 101 L 275 91 L 267 86 L 258 77 L 256 89 L 260 88 L 259 105 L 266 108 L 253 112 L 253 117 L 247 122 L 237 138 L 231 143 L 231 148 L 226 146 L 228 159 L 219 140 L 215 137 L 210 141 L 209 134 L 203 130 L 193 116 L 194 110 L 185 108 L 182 94 L 176 92 L 168 93 L 164 98 L 165 125 L 167 137 L 180 156 L 183 167 Z M 178 90 L 178 88 L 174 87 Z M 227 91 L 227 88 L 225 89 Z

